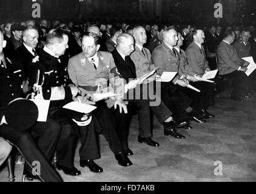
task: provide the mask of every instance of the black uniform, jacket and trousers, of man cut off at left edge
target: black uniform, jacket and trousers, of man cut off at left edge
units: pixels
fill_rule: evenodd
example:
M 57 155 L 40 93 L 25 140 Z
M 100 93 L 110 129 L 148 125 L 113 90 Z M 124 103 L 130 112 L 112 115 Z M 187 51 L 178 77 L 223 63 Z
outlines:
M 22 65 L 18 61 L 10 61 L 5 58 L 0 64 L 0 118 L 4 115 L 4 110 L 8 103 L 16 98 L 22 98 Z M 17 118 L 18 119 L 18 118 Z M 33 161 L 41 164 L 41 181 L 62 181 L 58 173 L 49 164 L 52 161 L 53 153 L 56 149 L 61 126 L 51 118 L 47 122 L 36 122 L 31 129 L 16 130 L 10 125 L 0 125 L 0 136 L 14 144 L 29 166 Z M 33 138 L 37 139 L 37 144 Z M 47 161 L 48 160 L 48 161 Z M 33 166 L 32 166 L 33 167 Z

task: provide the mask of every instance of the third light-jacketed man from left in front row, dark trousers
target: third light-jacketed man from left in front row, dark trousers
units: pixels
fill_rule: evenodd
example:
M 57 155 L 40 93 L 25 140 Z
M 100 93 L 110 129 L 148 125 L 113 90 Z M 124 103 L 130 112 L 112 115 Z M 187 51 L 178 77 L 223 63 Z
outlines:
M 177 45 L 178 36 L 176 30 L 167 28 L 163 32 L 163 43 L 159 45 L 152 53 L 152 61 L 159 67 L 157 73 L 162 75 L 163 72 L 178 72 L 180 59 L 177 50 L 173 47 Z M 187 87 L 189 81 L 175 76 L 171 82 L 161 82 L 161 99 L 167 107 L 173 112 L 173 116 L 178 121 L 193 120 L 198 123 L 206 122 L 200 119 L 200 113 L 190 107 L 192 99 L 182 92 L 177 85 Z

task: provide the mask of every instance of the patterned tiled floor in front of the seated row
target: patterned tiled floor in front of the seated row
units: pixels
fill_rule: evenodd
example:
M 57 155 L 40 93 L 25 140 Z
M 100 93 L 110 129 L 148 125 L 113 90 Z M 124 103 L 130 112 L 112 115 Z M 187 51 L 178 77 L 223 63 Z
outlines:
M 119 166 L 101 136 L 101 159 L 96 163 L 103 167 L 103 173 L 79 167 L 78 150 L 75 166 L 82 175 L 59 173 L 64 181 L 256 181 L 256 97 L 235 102 L 222 94 L 215 100 L 215 106 L 209 110 L 215 118 L 205 124 L 192 122 L 192 130 L 179 130 L 186 139 L 164 136 L 155 120 L 153 139 L 160 147 L 136 141 L 138 121 L 133 117 L 129 136 L 133 166 Z M 215 161 L 222 162 L 222 176 L 214 174 Z M 16 165 L 16 181 L 21 181 L 22 169 L 22 165 Z M 0 181 L 7 181 L 7 174 L 4 167 Z

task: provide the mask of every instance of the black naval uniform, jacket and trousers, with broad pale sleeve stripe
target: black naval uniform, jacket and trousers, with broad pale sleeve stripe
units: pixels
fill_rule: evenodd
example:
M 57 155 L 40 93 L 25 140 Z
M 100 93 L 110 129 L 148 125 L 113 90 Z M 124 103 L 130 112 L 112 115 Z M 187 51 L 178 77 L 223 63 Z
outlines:
M 75 158 L 76 137 L 81 137 L 81 147 L 79 155 L 81 160 L 99 158 L 98 146 L 96 141 L 95 129 L 98 129 L 98 122 L 92 119 L 92 122 L 84 127 L 78 127 L 72 118 L 64 112 L 62 107 L 72 102 L 72 93 L 69 84 L 72 81 L 67 73 L 68 55 L 62 55 L 56 58 L 44 50 L 38 51 L 39 63 L 30 64 L 28 69 L 29 82 L 31 85 L 35 82 L 38 69 L 44 73 L 44 85 L 42 92 L 44 99 L 50 99 L 52 87 L 63 86 L 65 97 L 61 100 L 51 100 L 49 115 L 61 124 L 62 131 L 57 146 L 58 164 L 64 167 L 73 168 L 73 159 Z M 85 135 L 87 134 L 87 135 Z M 90 147 L 88 147 L 90 145 Z

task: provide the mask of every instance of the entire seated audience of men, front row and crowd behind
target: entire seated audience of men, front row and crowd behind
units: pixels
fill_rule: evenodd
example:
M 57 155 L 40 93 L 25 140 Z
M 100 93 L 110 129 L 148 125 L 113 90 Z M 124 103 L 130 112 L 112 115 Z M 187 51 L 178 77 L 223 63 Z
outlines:
M 203 124 L 215 117 L 207 109 L 214 105 L 214 96 L 221 92 L 224 79 L 232 81 L 232 100 L 242 102 L 256 93 L 255 72 L 247 76 L 249 62 L 242 59 L 249 56 L 256 59 L 254 25 L 206 27 L 140 21 L 100 24 L 31 19 L 7 21 L 1 25 L 1 31 L 1 119 L 8 102 L 33 92 L 38 70 L 45 78 L 42 95 L 51 101 L 46 122 L 36 122 L 23 131 L 4 122 L 0 125 L 0 151 L 3 150 L 0 165 L 13 144 L 30 164 L 28 179 L 62 181 L 51 166 L 55 150 L 57 168 L 67 175 L 80 175 L 73 162 L 77 138 L 81 141 L 80 166 L 87 166 L 95 173 L 103 172 L 93 161 L 100 157 L 99 134 L 107 139 L 120 166 L 132 165 L 128 158 L 133 155 L 128 134 L 134 114 L 139 121 L 138 142 L 160 146 L 152 139 L 150 112 L 163 125 L 164 135 L 182 141 L 186 137 L 179 129 L 190 130 L 191 121 Z M 138 78 L 154 69 L 156 73 L 150 77 L 153 81 L 140 82 Z M 201 81 L 211 70 L 218 70 L 215 83 Z M 177 75 L 171 82 L 158 85 L 155 79 L 164 72 Z M 93 93 L 99 90 L 99 85 L 113 87 L 118 94 L 133 91 L 140 98 L 120 95 L 96 99 Z M 189 85 L 201 92 L 190 89 Z M 155 94 L 155 99 L 143 98 L 150 93 Z M 151 106 L 150 102 L 157 98 L 159 104 Z M 93 104 L 97 109 L 92 115 L 70 114 L 62 106 L 71 101 Z M 33 161 L 41 162 L 41 175 L 32 173 Z

